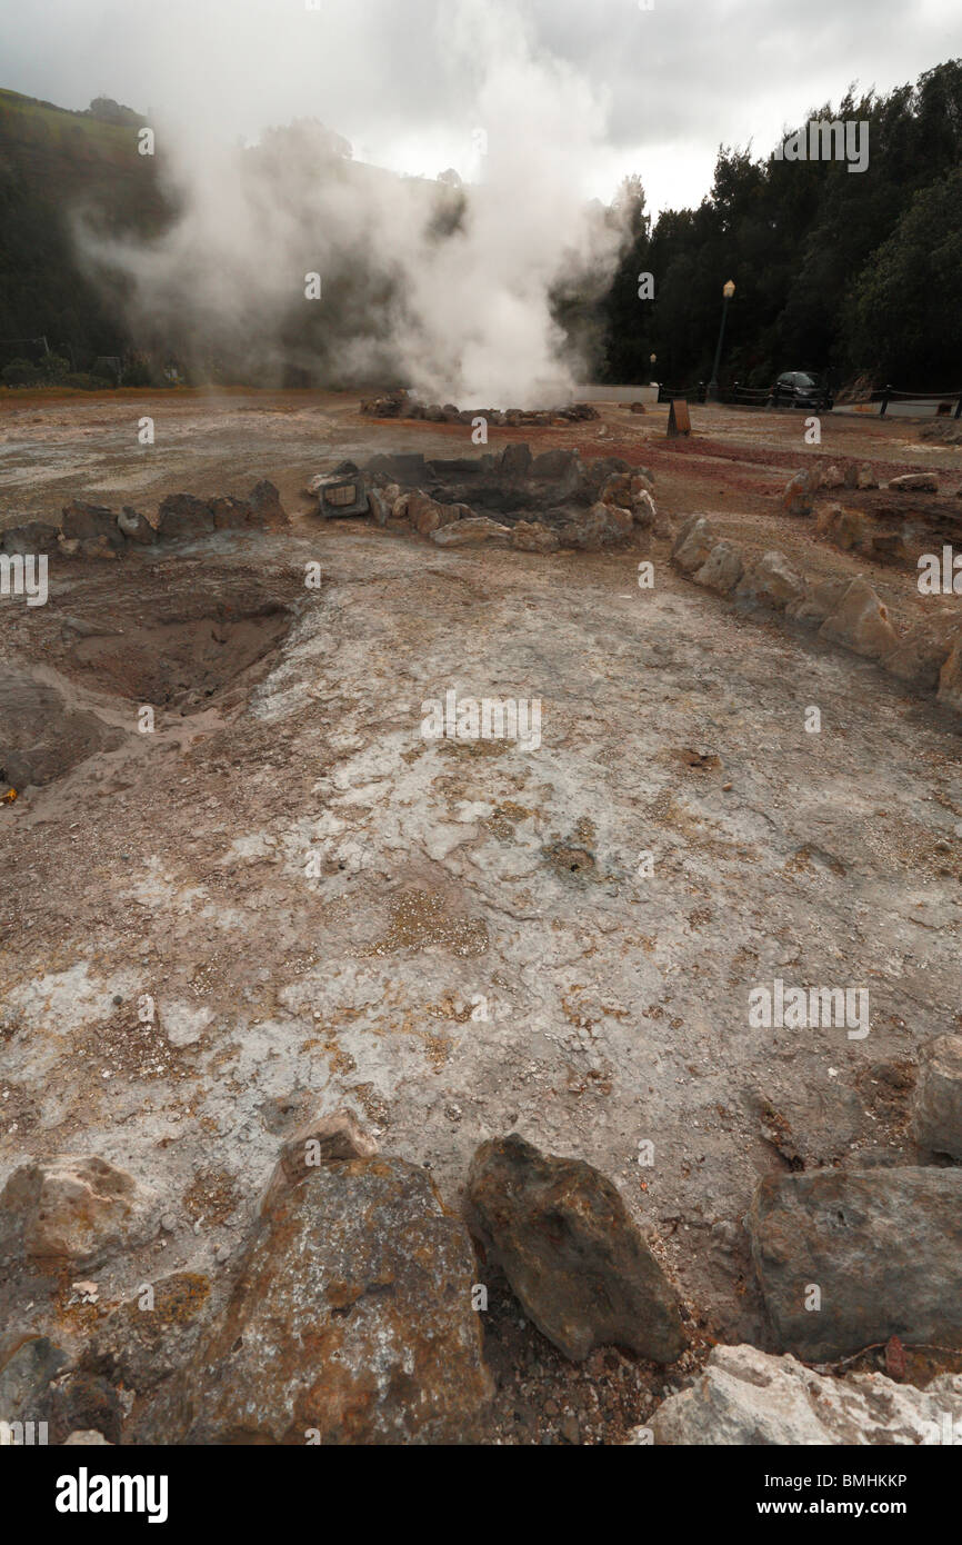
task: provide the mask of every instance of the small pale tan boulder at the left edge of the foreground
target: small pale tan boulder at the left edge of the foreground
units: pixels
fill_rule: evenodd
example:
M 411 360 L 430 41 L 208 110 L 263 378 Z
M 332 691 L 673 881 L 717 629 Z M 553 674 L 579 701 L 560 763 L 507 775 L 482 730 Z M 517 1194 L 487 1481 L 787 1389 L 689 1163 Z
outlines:
M 93 1267 L 153 1239 L 158 1224 L 154 1191 L 107 1159 L 39 1159 L 0 1194 L 0 1261 L 23 1251 L 46 1270 Z

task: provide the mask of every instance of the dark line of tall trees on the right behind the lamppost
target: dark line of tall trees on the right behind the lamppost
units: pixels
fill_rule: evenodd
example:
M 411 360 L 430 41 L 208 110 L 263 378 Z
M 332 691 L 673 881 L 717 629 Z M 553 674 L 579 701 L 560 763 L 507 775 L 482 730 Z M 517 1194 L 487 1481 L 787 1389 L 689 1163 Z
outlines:
M 869 124 L 869 162 L 786 161 L 721 148 L 696 210 L 644 215 L 604 304 L 607 380 L 707 380 L 721 287 L 737 284 L 723 380 L 764 386 L 783 369 L 908 389 L 962 386 L 962 60 L 888 96 L 852 91 L 811 119 Z M 803 127 L 803 125 L 798 125 Z M 638 275 L 655 298 L 638 298 Z

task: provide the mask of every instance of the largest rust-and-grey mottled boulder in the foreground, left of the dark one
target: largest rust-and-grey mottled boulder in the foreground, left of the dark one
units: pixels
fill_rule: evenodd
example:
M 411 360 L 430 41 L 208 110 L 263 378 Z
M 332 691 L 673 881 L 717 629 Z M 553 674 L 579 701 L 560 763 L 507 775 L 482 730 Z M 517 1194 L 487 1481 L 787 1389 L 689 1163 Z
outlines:
M 188 1441 L 471 1441 L 491 1394 L 476 1270 L 418 1165 L 312 1168 L 263 1221 L 182 1381 Z

